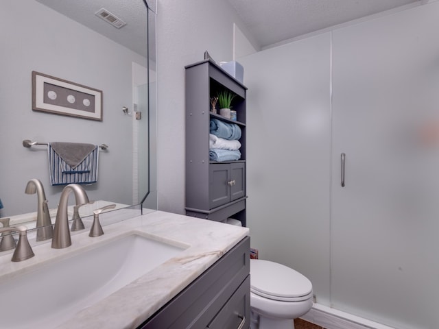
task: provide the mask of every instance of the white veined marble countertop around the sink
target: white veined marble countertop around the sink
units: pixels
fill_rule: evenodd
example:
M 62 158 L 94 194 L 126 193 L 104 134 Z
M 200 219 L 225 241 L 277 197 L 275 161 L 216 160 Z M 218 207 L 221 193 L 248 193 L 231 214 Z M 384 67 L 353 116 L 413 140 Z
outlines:
M 71 247 L 65 249 L 52 249 L 50 243 L 36 245 L 35 256 L 19 263 L 10 262 L 10 255 L 0 256 L 0 280 L 32 271 L 33 267 L 52 258 L 67 258 L 86 245 L 115 239 L 126 232 L 143 232 L 158 241 L 187 246 L 178 256 L 69 316 L 59 326 L 54 325 L 64 329 L 136 328 L 249 234 L 248 228 L 162 211 L 104 226 L 104 232 L 103 236 L 93 239 L 88 232 L 73 234 Z

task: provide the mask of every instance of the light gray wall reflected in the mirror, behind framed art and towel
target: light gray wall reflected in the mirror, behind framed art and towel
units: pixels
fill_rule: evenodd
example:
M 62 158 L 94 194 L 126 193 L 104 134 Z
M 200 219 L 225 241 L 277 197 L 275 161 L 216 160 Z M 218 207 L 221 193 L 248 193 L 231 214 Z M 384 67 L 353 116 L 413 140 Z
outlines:
M 132 117 L 121 108 L 132 107 L 132 62 L 146 59 L 33 0 L 2 1 L 0 40 L 1 215 L 35 211 L 36 196 L 24 193 L 31 178 L 43 182 L 50 208 L 62 189 L 49 186 L 47 147 L 26 149 L 23 139 L 107 144 L 88 195 L 131 204 Z M 32 71 L 103 90 L 104 121 L 32 111 Z

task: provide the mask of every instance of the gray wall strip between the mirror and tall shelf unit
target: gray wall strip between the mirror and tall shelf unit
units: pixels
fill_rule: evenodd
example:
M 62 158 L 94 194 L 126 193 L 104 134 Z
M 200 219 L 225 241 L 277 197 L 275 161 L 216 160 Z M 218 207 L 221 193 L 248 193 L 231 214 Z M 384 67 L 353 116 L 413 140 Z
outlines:
M 158 208 L 185 211 L 185 65 L 233 60 L 233 23 L 227 1 L 161 0 L 157 9 Z

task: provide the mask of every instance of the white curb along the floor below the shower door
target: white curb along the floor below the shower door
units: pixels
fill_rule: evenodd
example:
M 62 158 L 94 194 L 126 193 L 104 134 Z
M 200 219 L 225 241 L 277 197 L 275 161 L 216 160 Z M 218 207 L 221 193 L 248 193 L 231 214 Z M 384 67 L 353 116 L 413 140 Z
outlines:
M 313 304 L 300 318 L 326 329 L 394 329 L 321 304 Z

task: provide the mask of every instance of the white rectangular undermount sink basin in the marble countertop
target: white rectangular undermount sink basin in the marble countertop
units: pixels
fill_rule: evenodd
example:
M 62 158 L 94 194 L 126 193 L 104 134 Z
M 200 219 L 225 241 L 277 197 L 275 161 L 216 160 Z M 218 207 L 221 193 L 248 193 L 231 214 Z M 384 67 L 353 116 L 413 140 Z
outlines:
M 54 328 L 187 247 L 132 232 L 1 280 L 0 328 Z

